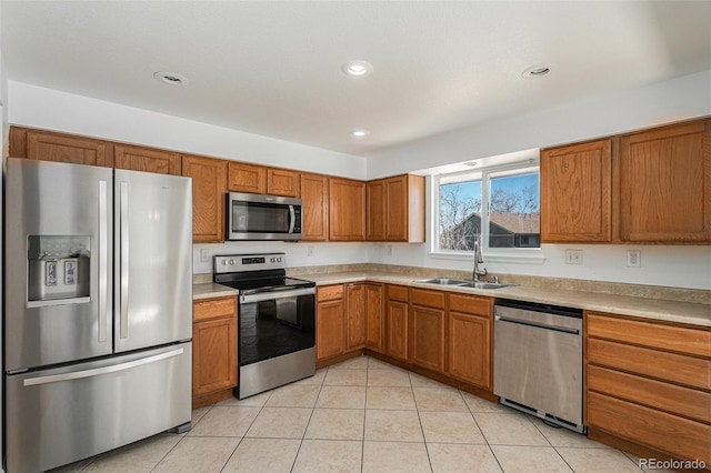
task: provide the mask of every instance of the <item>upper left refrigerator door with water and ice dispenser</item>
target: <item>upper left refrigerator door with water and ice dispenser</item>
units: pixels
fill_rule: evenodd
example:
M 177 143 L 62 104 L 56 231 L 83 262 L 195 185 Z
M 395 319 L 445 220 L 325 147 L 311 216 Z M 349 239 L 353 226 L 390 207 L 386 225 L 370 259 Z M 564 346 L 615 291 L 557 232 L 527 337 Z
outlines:
M 111 172 L 8 159 L 6 371 L 111 353 Z

